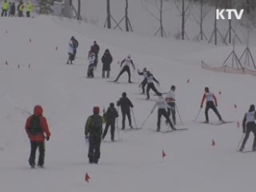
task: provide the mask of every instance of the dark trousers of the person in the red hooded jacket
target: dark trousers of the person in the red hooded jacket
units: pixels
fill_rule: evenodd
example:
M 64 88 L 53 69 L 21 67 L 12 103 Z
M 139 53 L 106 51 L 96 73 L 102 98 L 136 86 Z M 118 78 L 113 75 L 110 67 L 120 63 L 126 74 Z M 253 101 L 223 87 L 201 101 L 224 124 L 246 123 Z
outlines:
M 45 142 L 30 141 L 30 158 L 29 158 L 30 166 L 35 165 L 35 155 L 38 148 L 39 148 L 38 166 L 43 166 L 44 164 Z

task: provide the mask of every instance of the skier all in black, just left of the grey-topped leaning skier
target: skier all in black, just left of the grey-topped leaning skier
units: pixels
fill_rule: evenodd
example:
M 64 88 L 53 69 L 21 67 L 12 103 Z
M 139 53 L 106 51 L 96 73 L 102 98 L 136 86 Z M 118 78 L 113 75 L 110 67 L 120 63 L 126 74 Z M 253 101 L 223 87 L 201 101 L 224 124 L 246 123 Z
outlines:
M 122 130 L 126 127 L 126 115 L 128 117 L 130 129 L 133 129 L 130 118 L 130 107 L 133 108 L 134 105 L 130 102 L 130 99 L 126 97 L 126 92 L 122 93 L 122 98 L 119 99 L 117 104 L 118 106 L 121 106 L 122 110 Z

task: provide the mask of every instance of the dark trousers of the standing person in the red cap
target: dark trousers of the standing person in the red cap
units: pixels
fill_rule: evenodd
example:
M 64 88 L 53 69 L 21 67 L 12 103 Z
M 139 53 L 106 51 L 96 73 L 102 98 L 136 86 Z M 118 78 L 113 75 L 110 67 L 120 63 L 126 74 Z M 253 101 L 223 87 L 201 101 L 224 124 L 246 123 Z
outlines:
M 101 156 L 101 141 L 102 137 L 101 135 L 90 135 L 89 137 L 89 151 L 88 151 L 88 158 L 89 162 L 92 163 L 98 163 L 98 159 Z

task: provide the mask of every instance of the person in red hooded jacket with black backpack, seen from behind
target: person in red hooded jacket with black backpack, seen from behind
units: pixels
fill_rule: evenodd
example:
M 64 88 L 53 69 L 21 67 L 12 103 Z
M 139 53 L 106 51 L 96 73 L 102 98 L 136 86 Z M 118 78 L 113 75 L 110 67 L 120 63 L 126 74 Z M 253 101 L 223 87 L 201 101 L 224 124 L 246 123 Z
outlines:
M 46 118 L 42 116 L 42 106 L 34 106 L 34 114 L 26 119 L 25 129 L 26 134 L 30 138 L 30 166 L 34 168 L 36 150 L 39 148 L 38 166 L 43 167 L 45 159 L 45 138 L 47 141 L 50 139 L 50 130 Z

